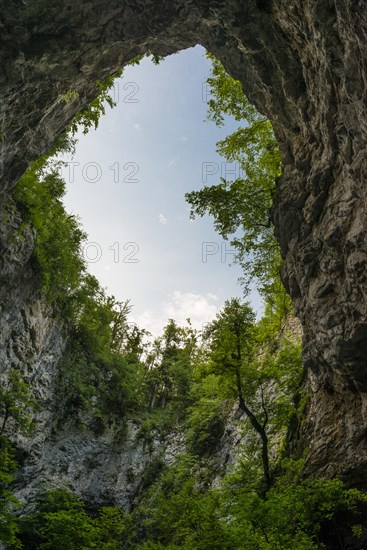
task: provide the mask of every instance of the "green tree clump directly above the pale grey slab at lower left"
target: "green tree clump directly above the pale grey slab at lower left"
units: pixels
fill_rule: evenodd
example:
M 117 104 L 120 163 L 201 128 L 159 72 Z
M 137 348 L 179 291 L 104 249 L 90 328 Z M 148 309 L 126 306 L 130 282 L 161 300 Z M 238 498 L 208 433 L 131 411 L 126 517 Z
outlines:
M 74 331 L 61 366 L 63 407 L 89 412 L 98 431 L 112 418 L 123 419 L 139 403 L 143 331 L 128 324 L 128 302 L 107 296 L 85 276 L 77 295 Z

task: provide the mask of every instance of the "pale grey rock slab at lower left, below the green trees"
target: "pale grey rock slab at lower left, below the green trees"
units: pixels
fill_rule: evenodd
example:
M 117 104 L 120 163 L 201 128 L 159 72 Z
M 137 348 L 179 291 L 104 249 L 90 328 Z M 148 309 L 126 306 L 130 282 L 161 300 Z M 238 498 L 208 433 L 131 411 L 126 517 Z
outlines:
M 49 422 L 52 420 L 50 417 Z M 167 439 L 157 436 L 147 445 L 139 437 L 139 426 L 132 422 L 119 440 L 118 425 L 96 436 L 71 420 L 61 428 L 54 427 L 39 452 L 34 439 L 23 443 L 23 448 L 29 456 L 20 470 L 15 494 L 27 507 L 40 490 L 69 487 L 90 508 L 113 504 L 130 510 L 144 488 L 147 468 L 155 461 L 169 464 L 184 446 L 180 433 Z

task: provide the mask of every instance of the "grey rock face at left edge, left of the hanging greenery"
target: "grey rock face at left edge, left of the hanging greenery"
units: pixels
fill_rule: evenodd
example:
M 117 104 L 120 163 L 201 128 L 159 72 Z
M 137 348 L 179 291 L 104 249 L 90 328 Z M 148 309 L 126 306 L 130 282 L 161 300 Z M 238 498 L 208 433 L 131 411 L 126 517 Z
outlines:
M 20 370 L 37 382 L 37 398 L 52 379 L 65 336 L 39 293 L 32 268 L 33 234 L 10 200 L 0 206 L 0 373 Z

